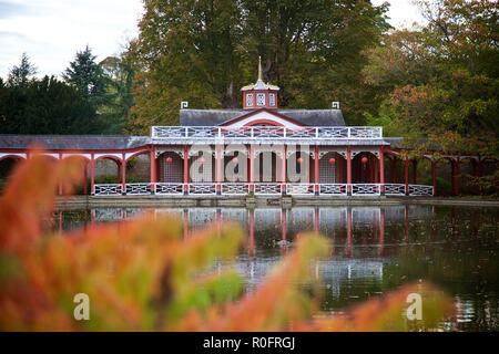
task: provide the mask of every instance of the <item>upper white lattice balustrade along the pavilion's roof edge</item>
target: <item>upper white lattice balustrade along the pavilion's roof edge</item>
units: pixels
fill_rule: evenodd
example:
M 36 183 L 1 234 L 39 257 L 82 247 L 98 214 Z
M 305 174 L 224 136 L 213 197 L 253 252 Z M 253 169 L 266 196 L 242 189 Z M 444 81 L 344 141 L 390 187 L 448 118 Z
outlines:
M 383 138 L 383 127 L 370 126 L 328 126 L 328 127 L 298 127 L 287 128 L 281 126 L 153 126 L 153 138 L 185 138 L 185 139 L 379 139 Z

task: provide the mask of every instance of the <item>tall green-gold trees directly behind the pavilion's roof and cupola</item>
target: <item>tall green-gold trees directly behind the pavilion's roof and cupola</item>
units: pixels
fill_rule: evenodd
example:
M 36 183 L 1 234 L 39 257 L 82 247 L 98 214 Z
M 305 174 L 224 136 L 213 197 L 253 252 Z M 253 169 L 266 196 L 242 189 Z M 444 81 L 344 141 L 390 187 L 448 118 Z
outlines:
M 131 43 L 136 70 L 132 132 L 176 124 L 179 104 L 241 106 L 238 88 L 256 77 L 282 86 L 283 106 L 344 103 L 360 123 L 373 106 L 363 94 L 364 51 L 388 29 L 387 6 L 369 1 L 144 1 L 140 35 Z

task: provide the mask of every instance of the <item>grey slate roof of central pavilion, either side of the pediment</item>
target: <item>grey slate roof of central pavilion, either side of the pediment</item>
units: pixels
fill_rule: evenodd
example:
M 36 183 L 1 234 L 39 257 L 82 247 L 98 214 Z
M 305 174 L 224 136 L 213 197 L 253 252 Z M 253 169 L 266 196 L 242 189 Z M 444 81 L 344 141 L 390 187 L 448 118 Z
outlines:
M 221 125 L 249 112 L 243 110 L 181 110 L 180 124 L 182 126 Z M 308 126 L 345 126 L 340 110 L 277 110 L 276 113 Z

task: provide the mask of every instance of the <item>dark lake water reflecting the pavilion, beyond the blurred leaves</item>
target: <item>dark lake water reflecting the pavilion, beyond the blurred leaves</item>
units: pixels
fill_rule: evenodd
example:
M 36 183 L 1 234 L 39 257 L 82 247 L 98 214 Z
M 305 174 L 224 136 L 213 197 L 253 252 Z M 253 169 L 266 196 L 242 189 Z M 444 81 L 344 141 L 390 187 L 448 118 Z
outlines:
M 247 242 L 235 264 L 248 292 L 293 249 L 297 233 L 316 230 L 333 246 L 329 259 L 313 264 L 323 278 L 323 310 L 336 312 L 416 280 L 454 296 L 456 319 L 442 330 L 499 330 L 499 208 L 361 206 L 281 208 L 98 208 L 60 211 L 64 230 L 112 222 L 143 211 L 173 214 L 190 232 L 207 222 L 237 221 Z

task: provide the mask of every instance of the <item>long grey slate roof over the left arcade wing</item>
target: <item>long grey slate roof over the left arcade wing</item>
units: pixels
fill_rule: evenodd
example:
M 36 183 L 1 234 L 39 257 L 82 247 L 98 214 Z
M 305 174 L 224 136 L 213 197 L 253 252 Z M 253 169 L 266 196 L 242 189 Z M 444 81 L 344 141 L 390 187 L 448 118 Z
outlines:
M 151 144 L 149 136 L 123 135 L 10 135 L 0 134 L 1 148 L 27 148 L 33 144 L 47 149 L 126 149 Z

